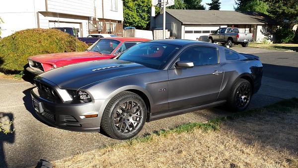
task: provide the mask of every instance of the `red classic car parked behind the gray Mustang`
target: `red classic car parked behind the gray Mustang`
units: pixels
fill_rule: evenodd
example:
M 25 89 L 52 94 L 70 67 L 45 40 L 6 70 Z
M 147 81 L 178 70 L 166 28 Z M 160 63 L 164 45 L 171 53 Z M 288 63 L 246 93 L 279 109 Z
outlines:
M 26 70 L 32 74 L 39 75 L 54 68 L 74 63 L 111 59 L 130 47 L 144 41 L 149 41 L 149 39 L 135 37 L 101 38 L 84 52 L 31 56 L 28 58 L 29 67 L 27 67 Z

